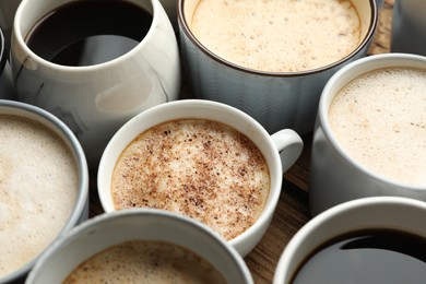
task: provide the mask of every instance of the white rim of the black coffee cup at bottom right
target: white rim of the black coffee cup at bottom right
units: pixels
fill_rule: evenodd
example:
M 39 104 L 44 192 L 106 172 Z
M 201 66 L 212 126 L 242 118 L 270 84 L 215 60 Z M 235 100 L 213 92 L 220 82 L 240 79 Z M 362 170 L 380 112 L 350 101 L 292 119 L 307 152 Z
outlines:
M 338 205 L 334 205 L 326 211 L 319 213 L 313 218 L 308 221 L 288 241 L 284 251 L 282 252 L 280 260 L 276 264 L 274 272 L 274 284 L 284 283 L 285 277 L 292 277 L 295 271 L 291 271 L 293 274 L 288 275 L 287 271 L 283 268 L 287 267 L 287 263 L 291 263 L 293 256 L 297 253 L 298 248 L 303 245 L 304 240 L 312 234 L 317 228 L 321 227 L 327 222 L 330 222 L 334 217 L 351 212 L 351 211 L 360 211 L 363 209 L 379 206 L 379 205 L 399 205 L 399 206 L 410 206 L 419 209 L 426 212 L 426 202 L 406 198 L 406 197 L 366 197 L 355 200 L 345 201 Z M 371 227 L 374 228 L 374 227 Z M 356 228 L 354 228 L 356 229 Z M 339 235 L 339 234 L 338 234 Z M 306 258 L 306 257 L 305 257 Z

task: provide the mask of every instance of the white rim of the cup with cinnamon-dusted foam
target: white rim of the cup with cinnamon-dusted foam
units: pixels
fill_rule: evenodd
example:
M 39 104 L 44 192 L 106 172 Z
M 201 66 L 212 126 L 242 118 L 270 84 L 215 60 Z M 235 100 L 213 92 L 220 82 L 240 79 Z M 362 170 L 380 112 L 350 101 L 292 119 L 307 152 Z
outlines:
M 114 210 L 108 209 L 108 206 L 106 205 L 109 203 L 108 201 L 106 201 L 106 199 L 109 199 L 109 196 L 108 196 L 108 198 L 105 198 L 104 197 L 105 192 L 103 192 L 103 191 L 105 191 L 105 189 L 103 189 L 103 188 L 105 188 L 105 185 L 104 185 L 105 184 L 105 180 L 104 180 L 105 174 L 104 175 L 99 174 L 102 171 L 105 171 L 105 167 L 108 163 L 111 163 L 111 162 L 107 161 L 107 156 L 109 155 L 109 152 L 113 151 L 111 147 L 114 146 L 114 144 L 116 144 L 116 143 L 122 144 L 122 143 L 118 142 L 120 140 L 120 137 L 128 131 L 129 126 L 137 125 L 138 120 L 143 121 L 144 118 L 150 117 L 152 115 L 152 113 L 168 111 L 169 108 L 175 108 L 176 106 L 178 106 L 179 108 L 188 107 L 188 106 L 190 106 L 191 108 L 199 108 L 199 107 L 221 108 L 221 109 L 225 109 L 227 111 L 232 111 L 233 114 L 235 114 L 235 116 L 239 116 L 244 120 L 249 121 L 249 123 L 252 128 L 251 131 L 260 133 L 264 138 L 263 141 L 265 143 L 268 143 L 268 145 L 267 145 L 268 149 L 271 150 L 271 152 L 272 151 L 276 152 L 276 155 L 274 154 L 273 157 L 271 157 L 271 162 L 274 164 L 274 166 L 271 167 L 270 164 L 268 164 L 268 165 L 269 165 L 271 187 L 276 184 L 276 187 L 280 187 L 280 189 L 279 190 L 270 189 L 268 201 L 262 210 L 262 213 L 255 221 L 255 223 L 249 228 L 244 230 L 241 234 L 239 234 L 235 238 L 228 240 L 234 247 L 239 247 L 242 242 L 251 239 L 258 232 L 260 232 L 262 226 L 264 224 L 267 224 L 269 218 L 273 215 L 275 208 L 276 208 L 276 204 L 280 200 L 281 187 L 282 187 L 281 177 L 282 177 L 283 170 L 282 170 L 282 164 L 280 161 L 280 154 L 279 154 L 275 145 L 273 144 L 271 135 L 267 132 L 267 130 L 257 120 L 255 120 L 252 117 L 250 117 L 249 115 L 247 115 L 242 110 L 239 110 L 233 106 L 229 106 L 229 105 L 226 105 L 223 103 L 218 103 L 218 102 L 214 102 L 214 100 L 206 100 L 206 99 L 182 99 L 182 100 L 168 102 L 168 103 L 164 103 L 162 105 L 154 106 L 147 110 L 144 110 L 143 113 L 137 115 L 135 117 L 130 119 L 127 123 L 125 123 L 116 132 L 116 134 L 114 134 L 114 137 L 110 139 L 109 143 L 105 147 L 105 151 L 100 157 L 99 167 L 98 167 L 98 175 L 97 175 L 97 185 L 98 185 L 97 190 L 98 190 L 98 196 L 99 196 L 102 206 L 104 208 L 104 210 L 106 212 L 117 211 L 116 209 L 114 209 Z M 190 117 L 190 116 L 188 116 L 188 117 Z M 177 119 L 179 119 L 179 118 L 177 118 Z M 228 125 L 230 127 L 233 127 L 232 123 L 228 123 Z M 233 128 L 235 128 L 235 127 L 233 127 Z M 240 130 L 238 130 L 238 131 L 240 131 Z M 133 135 L 133 137 L 135 137 L 135 135 Z M 250 138 L 250 140 L 252 140 L 252 139 Z M 120 147 L 121 151 L 125 149 L 125 146 Z M 259 150 L 261 149 L 258 144 L 257 144 L 257 146 L 259 147 Z M 264 153 L 262 151 L 262 154 L 265 156 L 267 153 Z M 275 179 L 276 179 L 276 181 L 275 181 Z

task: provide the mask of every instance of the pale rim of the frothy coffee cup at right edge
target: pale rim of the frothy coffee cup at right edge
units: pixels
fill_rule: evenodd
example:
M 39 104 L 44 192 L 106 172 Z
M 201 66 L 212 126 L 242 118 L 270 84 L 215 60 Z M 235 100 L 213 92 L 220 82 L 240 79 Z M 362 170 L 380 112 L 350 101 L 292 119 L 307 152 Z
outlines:
M 374 178 L 375 180 L 380 180 L 381 184 L 384 185 L 397 185 L 401 188 L 407 189 L 407 190 L 414 190 L 418 192 L 424 192 L 426 190 L 426 187 L 424 185 L 410 185 L 405 182 L 401 182 L 399 180 L 390 180 L 389 178 L 376 174 L 372 170 L 369 170 L 367 167 L 363 166 L 357 161 L 353 159 L 351 155 L 340 145 L 338 142 L 338 139 L 333 134 L 333 131 L 330 126 L 330 120 L 328 117 L 328 111 L 330 108 L 330 104 L 332 99 L 335 96 L 335 92 L 333 91 L 334 85 L 340 85 L 339 81 L 341 81 L 341 78 L 344 78 L 344 84 L 347 84 L 353 79 L 359 76 L 359 74 L 351 75 L 351 71 L 357 70 L 358 68 L 364 68 L 365 72 L 369 72 L 372 70 L 377 70 L 380 68 L 393 68 L 393 67 L 407 67 L 413 68 L 414 64 L 409 64 L 407 62 L 417 62 L 417 66 L 423 64 L 423 69 L 426 71 L 426 57 L 419 56 L 419 55 L 412 55 L 412 54 L 380 54 L 380 55 L 372 55 L 368 56 L 358 60 L 355 60 L 344 67 L 342 67 L 340 70 L 338 70 L 330 80 L 326 83 L 319 102 L 319 108 L 318 108 L 318 119 L 321 121 L 322 125 L 322 131 L 323 134 L 327 137 L 327 139 L 332 144 L 334 151 L 339 153 L 343 159 L 355 167 L 357 170 L 362 171 L 364 175 Z M 403 64 L 401 64 L 403 63 Z M 317 123 L 318 125 L 318 123 Z

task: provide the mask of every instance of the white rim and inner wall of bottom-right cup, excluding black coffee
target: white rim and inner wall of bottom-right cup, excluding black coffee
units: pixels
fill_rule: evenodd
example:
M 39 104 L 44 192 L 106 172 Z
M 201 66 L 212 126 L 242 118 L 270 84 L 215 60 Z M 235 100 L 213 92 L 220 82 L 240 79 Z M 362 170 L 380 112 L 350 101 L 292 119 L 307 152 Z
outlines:
M 316 248 L 343 234 L 384 228 L 426 239 L 425 216 L 425 202 L 401 197 L 370 197 L 331 208 L 310 220 L 291 239 L 276 265 L 273 283 L 289 283 Z

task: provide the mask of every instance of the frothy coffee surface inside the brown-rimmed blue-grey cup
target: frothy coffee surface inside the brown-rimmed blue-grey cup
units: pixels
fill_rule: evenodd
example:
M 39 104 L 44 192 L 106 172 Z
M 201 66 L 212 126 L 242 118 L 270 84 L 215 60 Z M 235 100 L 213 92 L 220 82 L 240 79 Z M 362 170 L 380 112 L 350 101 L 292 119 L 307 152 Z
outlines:
M 203 0 L 187 20 L 221 58 L 253 70 L 297 72 L 339 61 L 360 43 L 350 0 Z

